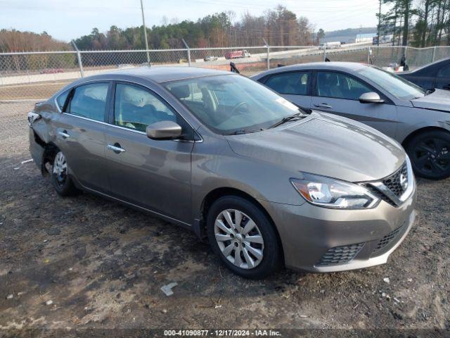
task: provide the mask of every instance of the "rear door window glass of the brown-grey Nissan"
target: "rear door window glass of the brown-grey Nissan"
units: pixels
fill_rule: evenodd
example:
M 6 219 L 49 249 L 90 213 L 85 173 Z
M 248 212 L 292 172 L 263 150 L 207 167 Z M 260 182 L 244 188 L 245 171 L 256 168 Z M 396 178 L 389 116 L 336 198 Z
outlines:
M 67 113 L 97 121 L 105 120 L 108 87 L 108 83 L 83 84 L 76 87 L 66 109 Z

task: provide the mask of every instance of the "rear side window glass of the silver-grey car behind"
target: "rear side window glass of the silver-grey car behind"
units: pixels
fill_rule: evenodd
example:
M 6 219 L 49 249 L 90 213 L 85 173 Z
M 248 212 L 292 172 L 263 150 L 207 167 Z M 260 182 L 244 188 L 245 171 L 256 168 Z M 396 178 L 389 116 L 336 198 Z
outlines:
M 266 86 L 280 94 L 306 95 L 308 80 L 309 72 L 290 72 L 270 77 Z

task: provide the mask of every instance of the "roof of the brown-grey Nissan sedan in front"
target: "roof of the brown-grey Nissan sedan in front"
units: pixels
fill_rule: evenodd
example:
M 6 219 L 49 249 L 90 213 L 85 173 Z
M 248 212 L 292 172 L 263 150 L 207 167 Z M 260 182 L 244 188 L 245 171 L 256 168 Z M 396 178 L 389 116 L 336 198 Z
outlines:
M 153 82 L 169 82 L 174 80 L 189 79 L 193 77 L 204 77 L 212 75 L 233 75 L 234 73 L 226 72 L 224 70 L 216 70 L 212 68 L 199 68 L 188 66 L 143 66 L 137 68 L 125 68 L 120 70 L 114 70 L 108 73 L 101 73 L 94 77 L 110 77 L 111 75 L 128 75 L 145 78 Z

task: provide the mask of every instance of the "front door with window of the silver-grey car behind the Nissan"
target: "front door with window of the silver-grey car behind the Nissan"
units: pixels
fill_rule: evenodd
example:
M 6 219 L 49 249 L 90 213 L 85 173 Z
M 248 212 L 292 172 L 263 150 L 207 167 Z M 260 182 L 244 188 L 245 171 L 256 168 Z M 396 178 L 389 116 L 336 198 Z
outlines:
M 395 136 L 397 107 L 363 80 L 346 73 L 318 71 L 313 90 L 311 108 L 352 118 L 390 137 Z M 361 104 L 359 96 L 366 92 L 377 92 L 385 103 Z

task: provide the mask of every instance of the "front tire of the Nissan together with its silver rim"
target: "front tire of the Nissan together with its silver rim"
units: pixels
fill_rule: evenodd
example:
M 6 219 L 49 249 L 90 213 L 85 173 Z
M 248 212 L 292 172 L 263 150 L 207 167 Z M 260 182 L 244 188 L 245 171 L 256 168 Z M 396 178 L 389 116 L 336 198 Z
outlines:
M 236 218 L 241 218 L 240 227 L 226 221 L 227 211 L 233 225 Z M 228 230 L 224 231 L 223 225 Z M 238 196 L 217 199 L 207 213 L 207 234 L 214 253 L 236 275 L 259 279 L 281 267 L 281 244 L 274 225 L 261 208 L 247 199 Z

